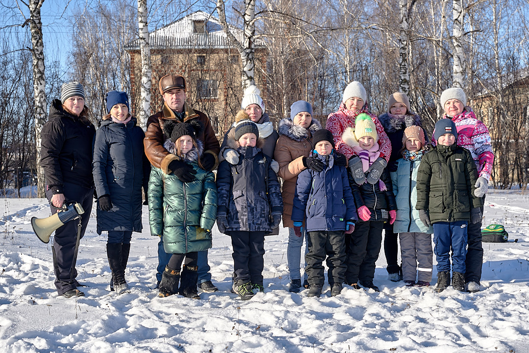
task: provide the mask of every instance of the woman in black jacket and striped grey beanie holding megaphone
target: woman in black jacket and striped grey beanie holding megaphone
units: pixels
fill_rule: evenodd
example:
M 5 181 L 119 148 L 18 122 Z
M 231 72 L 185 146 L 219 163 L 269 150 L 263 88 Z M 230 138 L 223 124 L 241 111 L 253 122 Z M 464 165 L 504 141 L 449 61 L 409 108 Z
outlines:
M 92 141 L 94 125 L 88 120 L 85 90 L 78 82 L 65 83 L 61 98 L 54 99 L 48 121 L 41 133 L 41 160 L 46 197 L 52 214 L 67 201 L 78 202 L 85 211 L 78 221 L 70 221 L 55 231 L 52 241 L 55 286 L 59 295 L 84 296 L 77 287 L 75 262 L 79 239 L 83 238 L 92 211 Z

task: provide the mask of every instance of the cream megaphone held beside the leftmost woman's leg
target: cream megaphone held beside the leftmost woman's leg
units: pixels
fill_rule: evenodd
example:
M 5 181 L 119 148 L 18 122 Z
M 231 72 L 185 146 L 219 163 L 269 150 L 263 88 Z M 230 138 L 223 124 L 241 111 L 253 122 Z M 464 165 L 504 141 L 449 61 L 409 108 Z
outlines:
M 31 227 L 37 234 L 37 237 L 43 243 L 47 244 L 50 242 L 51 233 L 57 228 L 62 227 L 65 223 L 79 218 L 81 214 L 85 213 L 80 203 L 75 201 L 69 201 L 64 204 L 66 208 L 58 209 L 62 212 L 52 214 L 47 218 L 31 218 Z

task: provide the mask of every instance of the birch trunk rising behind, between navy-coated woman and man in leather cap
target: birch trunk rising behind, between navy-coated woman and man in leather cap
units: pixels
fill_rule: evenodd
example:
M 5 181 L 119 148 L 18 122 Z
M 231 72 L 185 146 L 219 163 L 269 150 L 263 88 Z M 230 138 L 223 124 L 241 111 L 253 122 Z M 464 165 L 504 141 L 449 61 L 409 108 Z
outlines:
M 138 124 L 144 128 L 151 115 L 151 49 L 149 46 L 149 28 L 147 24 L 147 0 L 138 0 L 138 27 L 141 52 L 140 111 Z M 131 68 L 132 69 L 132 68 Z

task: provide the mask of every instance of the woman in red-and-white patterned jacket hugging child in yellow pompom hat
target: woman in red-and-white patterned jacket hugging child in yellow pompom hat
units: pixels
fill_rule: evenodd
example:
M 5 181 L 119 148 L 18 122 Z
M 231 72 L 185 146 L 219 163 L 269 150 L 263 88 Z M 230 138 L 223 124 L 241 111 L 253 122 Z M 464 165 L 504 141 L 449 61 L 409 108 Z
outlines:
M 382 170 L 387 166 L 389 156 L 391 155 L 391 142 L 389 141 L 388 135 L 384 131 L 384 127 L 380 124 L 377 116 L 368 112 L 366 99 L 366 88 L 358 81 L 351 82 L 343 91 L 342 104 L 338 112 L 329 114 L 325 126 L 333 134 L 336 152 L 342 153 L 349 160 L 351 174 L 354 181 L 359 185 L 363 184 L 366 180 L 362 169 L 362 161 L 360 158 L 357 158 L 357 153 L 342 141 L 344 130 L 350 126 L 354 129 L 354 120 L 358 114 L 366 113 L 371 116 L 371 120 L 375 123 L 377 129 L 378 144 L 380 146 L 380 157 L 373 162 L 368 170 L 368 183 L 378 183 Z

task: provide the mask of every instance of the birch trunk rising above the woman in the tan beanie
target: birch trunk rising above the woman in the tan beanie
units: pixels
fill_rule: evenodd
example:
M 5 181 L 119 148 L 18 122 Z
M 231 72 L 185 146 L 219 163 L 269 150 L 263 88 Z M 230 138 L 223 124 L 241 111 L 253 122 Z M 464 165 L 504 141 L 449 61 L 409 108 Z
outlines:
M 408 7 L 408 0 L 399 0 L 400 36 L 399 36 L 399 89 L 400 92 L 409 94 L 409 67 L 408 67 L 408 40 L 409 40 L 409 13 L 412 11 L 415 0 Z

